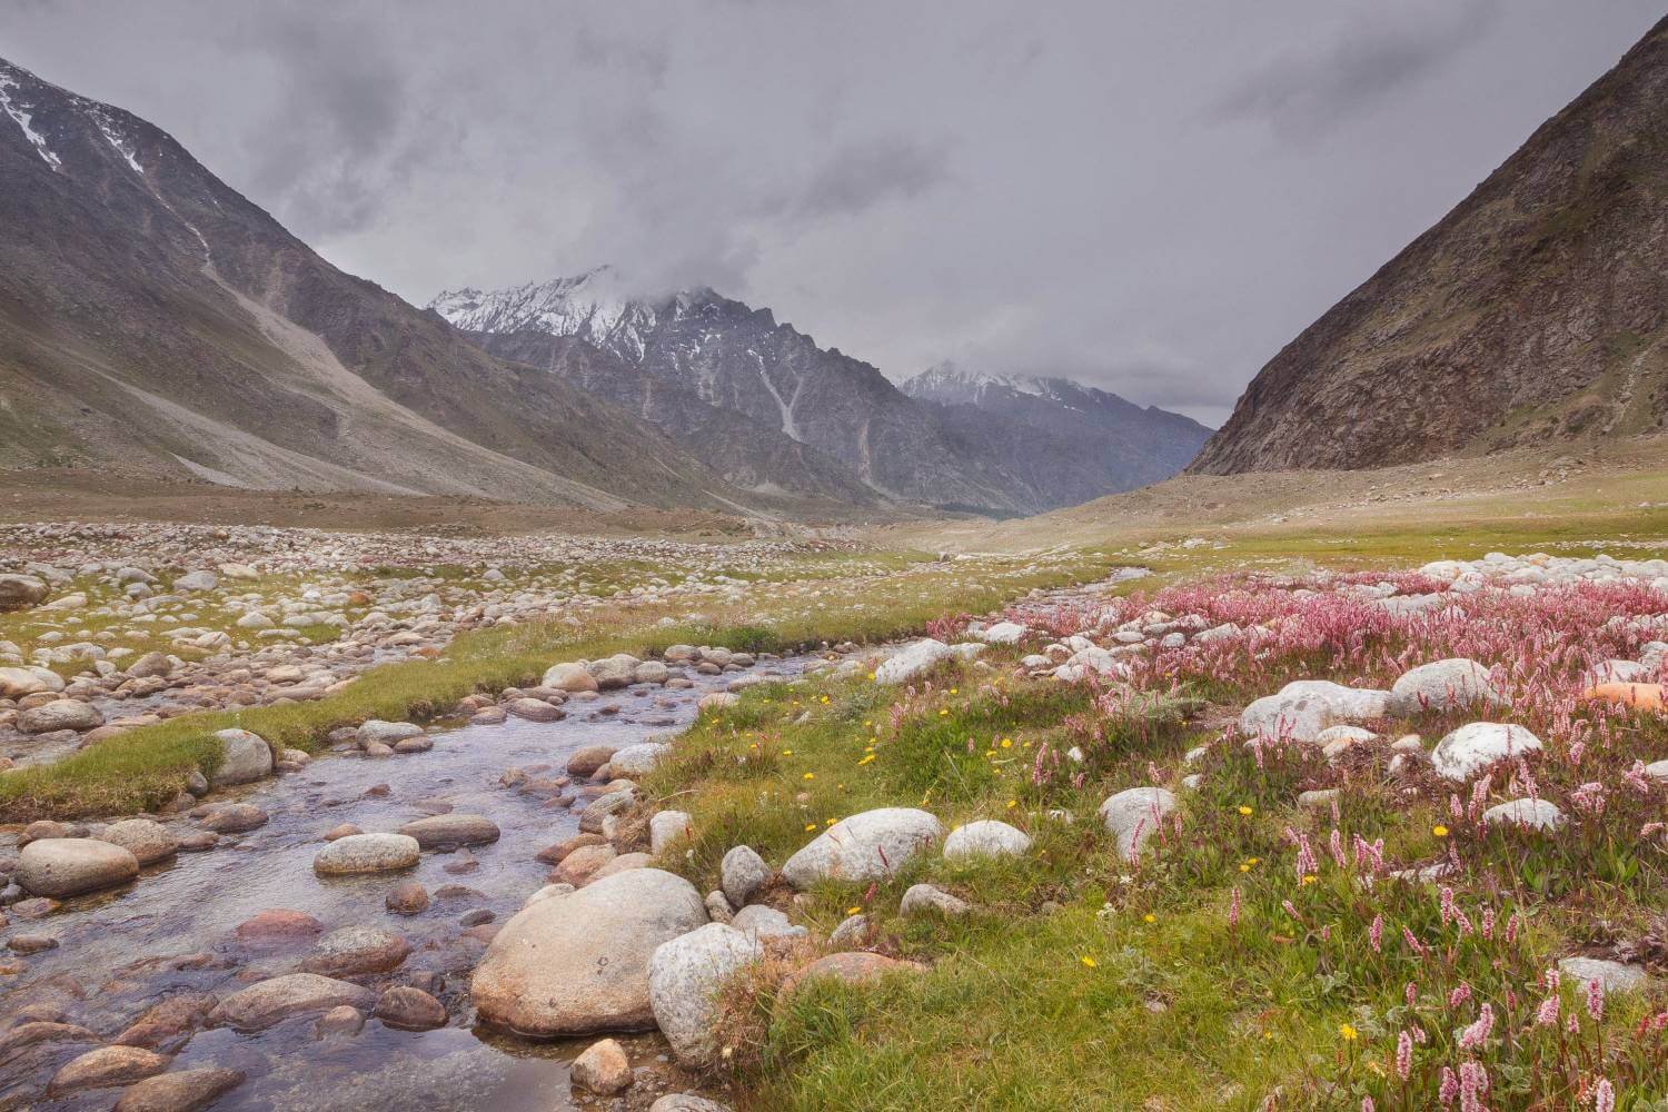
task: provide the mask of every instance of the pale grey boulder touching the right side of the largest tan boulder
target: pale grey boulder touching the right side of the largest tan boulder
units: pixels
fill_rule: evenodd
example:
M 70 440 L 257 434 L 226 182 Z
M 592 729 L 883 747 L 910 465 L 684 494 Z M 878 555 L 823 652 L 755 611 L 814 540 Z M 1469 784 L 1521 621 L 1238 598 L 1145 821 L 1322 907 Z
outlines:
M 649 1005 L 682 1065 L 699 1070 L 717 1062 L 719 987 L 762 952 L 757 939 L 724 924 L 707 924 L 656 949 Z

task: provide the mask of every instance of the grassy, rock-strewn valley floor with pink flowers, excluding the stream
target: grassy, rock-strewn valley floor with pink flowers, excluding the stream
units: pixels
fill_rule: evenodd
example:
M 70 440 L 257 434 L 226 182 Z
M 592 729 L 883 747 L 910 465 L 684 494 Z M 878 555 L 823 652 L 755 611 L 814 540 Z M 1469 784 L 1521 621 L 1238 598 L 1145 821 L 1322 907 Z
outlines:
M 1668 487 L 1643 465 L 1550 463 L 1501 465 L 1495 485 L 1468 470 L 1453 497 L 1388 507 L 1354 493 L 1399 472 L 1326 490 L 1274 477 L 1286 493 L 1238 510 L 1231 495 L 1254 483 L 1184 478 L 1032 522 L 719 543 L 479 520 L 13 525 L 0 575 L 43 597 L 0 614 L 0 742 L 20 765 L 0 774 L 0 817 L 143 812 L 190 837 L 224 810 L 203 774 L 227 760 L 227 727 L 324 784 L 377 755 L 355 732 L 367 720 L 514 720 L 529 697 L 560 709 L 542 685 L 557 662 L 811 650 L 822 660 L 802 679 L 704 700 L 629 805 L 594 824 L 607 854 L 592 869 L 617 855 L 722 892 L 746 845 L 767 872 L 707 899 L 721 920 L 751 904 L 766 955 L 706 1014 L 712 1057 L 689 1087 L 759 1110 L 1668 1107 L 1668 722 L 1631 689 L 1585 697 L 1663 679 Z M 1496 550 L 1525 559 L 1485 560 Z M 1475 564 L 1421 570 L 1431 560 Z M 922 634 L 981 647 L 896 677 L 899 645 Z M 1475 660 L 1466 675 L 1488 690 L 1444 705 L 1443 674 L 1424 700 L 1363 695 L 1449 659 Z M 1349 690 L 1259 717 L 1293 680 Z M 55 704 L 100 725 L 35 729 Z M 1439 740 L 1478 720 L 1541 749 L 1444 775 Z M 587 775 L 575 807 L 614 787 Z M 1129 790 L 1134 804 L 1111 802 Z M 1555 829 L 1501 824 L 1508 804 L 1556 807 Z M 931 829 L 887 842 L 861 880 L 807 872 L 804 847 L 861 842 L 852 820 L 876 809 Z M 957 827 L 1019 852 L 946 855 Z M 494 852 L 539 849 L 512 842 Z M 587 879 L 574 862 L 562 874 Z M 53 915 L 12 934 L 28 940 L 5 975 L 32 984 Z M 52 962 L 73 969 L 73 950 Z M 812 962 L 846 977 L 806 979 Z M 1598 974 L 1606 990 L 1586 987 Z M 449 1025 L 475 1022 L 459 984 L 440 992 Z M 63 1010 L 98 1040 L 132 1020 Z M 219 1044 L 192 1045 L 182 1060 L 202 1064 Z M 654 1045 L 627 1049 L 642 1060 Z M 50 1062 L 42 1085 L 72 1049 L 85 1050 L 30 1052 Z

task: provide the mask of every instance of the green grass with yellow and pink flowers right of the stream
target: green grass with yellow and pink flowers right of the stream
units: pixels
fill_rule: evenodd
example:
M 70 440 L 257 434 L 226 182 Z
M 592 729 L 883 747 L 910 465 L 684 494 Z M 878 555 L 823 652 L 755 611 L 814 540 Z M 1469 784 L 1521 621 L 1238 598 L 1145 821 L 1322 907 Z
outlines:
M 1480 555 L 1498 540 L 1475 537 L 1461 553 Z M 1189 569 L 1243 565 L 1253 552 L 1286 567 L 1293 555 L 1283 543 L 1178 555 L 1141 590 L 1188 589 L 1203 574 Z M 1359 565 L 1431 555 L 1389 535 L 1319 559 Z M 1620 612 L 1616 599 L 1590 602 Z M 1596 649 L 1620 652 L 1570 605 L 1573 637 L 1596 635 Z M 1493 639 L 1503 660 L 1515 640 L 1536 635 L 1528 614 L 1480 625 L 1488 629 L 1478 637 Z M 1593 1107 L 1600 1082 L 1620 1092 L 1616 1107 L 1668 1109 L 1668 1045 L 1660 1025 L 1650 1027 L 1665 992 L 1615 995 L 1595 1020 L 1570 982 L 1548 992 L 1541 980 L 1570 954 L 1643 952 L 1643 960 L 1668 962 L 1668 945 L 1651 942 L 1668 934 L 1668 852 L 1660 839 L 1640 837 L 1641 824 L 1660 819 L 1661 789 L 1641 797 L 1620 784 L 1635 757 L 1668 757 L 1668 720 L 1583 710 L 1576 722 L 1596 724 L 1583 760 L 1571 739 L 1588 737 L 1585 727 L 1556 727 L 1538 689 L 1546 680 L 1523 680 L 1523 717 L 1508 720 L 1533 724 L 1550 744 L 1535 775 L 1575 815 L 1560 839 L 1483 830 L 1475 814 L 1453 819 L 1451 789 L 1429 775 L 1386 777 L 1383 749 L 1331 765 L 1309 747 L 1258 755 L 1216 744 L 1201 762 L 1183 762 L 1221 732 L 1219 720 L 1199 715 L 1201 695 L 1236 712 L 1289 679 L 1388 684 L 1419 652 L 1444 655 L 1399 629 L 1348 650 L 1293 635 L 1254 667 L 1228 655 L 1193 660 L 1191 672 L 1178 665 L 1146 677 L 1168 694 L 1128 700 L 1026 680 L 1011 669 L 1016 650 L 992 650 L 992 669 L 944 665 L 909 689 L 814 677 L 752 689 L 737 707 L 704 715 L 646 782 L 659 805 L 692 815 L 689 852 L 667 867 L 701 890 L 716 887 L 732 845 L 781 865 L 831 822 L 882 805 L 926 807 L 946 827 L 1004 819 L 1034 837 L 1022 859 L 966 865 L 924 854 L 884 882 L 829 882 L 802 894 L 791 912 L 814 935 L 862 909 L 872 949 L 929 969 L 877 985 L 826 982 L 786 999 L 771 977 L 731 985 L 726 1070 L 746 1094 L 742 1107 L 1354 1110 L 1373 1100 L 1379 1110 L 1434 1109 L 1441 1067 L 1466 1060 L 1490 1070 L 1491 1109 Z M 1418 730 L 1429 744 L 1470 717 L 1456 710 L 1376 729 L 1386 737 Z M 1600 749 L 1598 737 L 1613 742 Z M 1084 762 L 1056 764 L 1071 745 Z M 1154 772 L 1171 787 L 1183 772 L 1201 772 L 1203 784 L 1181 792 L 1181 822 L 1156 852 L 1131 864 L 1094 809 L 1116 790 L 1151 784 Z M 1615 785 L 1603 814 L 1570 804 L 1588 780 Z M 1336 819 L 1326 807 L 1298 805 L 1299 792 L 1326 787 L 1341 792 Z M 1495 784 L 1486 802 L 1508 787 Z M 1328 849 L 1334 827 L 1344 864 Z M 1313 844 L 1313 872 L 1294 870 L 1288 830 Z M 1356 837 L 1379 845 L 1383 870 L 1351 860 Z M 1384 875 L 1441 862 L 1449 847 L 1463 862 L 1446 882 L 1454 919 L 1443 885 Z M 901 917 L 899 899 L 922 880 L 967 900 L 972 914 Z M 1388 924 L 1378 942 L 1374 919 Z M 1403 927 L 1423 950 L 1403 940 Z M 1571 1030 L 1535 1025 L 1546 997 L 1560 997 Z M 1498 1022 L 1461 1047 L 1485 1005 Z M 1419 1037 L 1406 1075 L 1403 1032 Z

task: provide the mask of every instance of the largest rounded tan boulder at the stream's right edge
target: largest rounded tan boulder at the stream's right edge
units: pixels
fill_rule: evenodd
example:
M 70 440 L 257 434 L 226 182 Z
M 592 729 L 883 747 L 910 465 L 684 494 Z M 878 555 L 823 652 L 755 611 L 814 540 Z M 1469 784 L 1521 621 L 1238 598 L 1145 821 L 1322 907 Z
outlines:
M 522 1035 L 647 1030 L 649 960 L 707 922 L 701 894 L 659 869 L 632 869 L 517 912 L 475 967 L 480 1017 Z

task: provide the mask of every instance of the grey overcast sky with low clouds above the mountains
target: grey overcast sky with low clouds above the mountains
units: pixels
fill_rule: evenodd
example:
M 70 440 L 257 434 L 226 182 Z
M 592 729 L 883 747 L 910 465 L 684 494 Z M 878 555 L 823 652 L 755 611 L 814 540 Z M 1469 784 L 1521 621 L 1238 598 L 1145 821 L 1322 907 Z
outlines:
M 425 303 L 615 263 L 904 378 L 1219 423 L 1661 17 L 1643 0 L 3 0 L 0 55 L 172 132 Z

